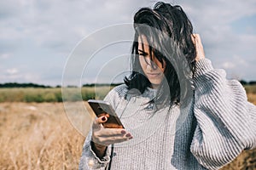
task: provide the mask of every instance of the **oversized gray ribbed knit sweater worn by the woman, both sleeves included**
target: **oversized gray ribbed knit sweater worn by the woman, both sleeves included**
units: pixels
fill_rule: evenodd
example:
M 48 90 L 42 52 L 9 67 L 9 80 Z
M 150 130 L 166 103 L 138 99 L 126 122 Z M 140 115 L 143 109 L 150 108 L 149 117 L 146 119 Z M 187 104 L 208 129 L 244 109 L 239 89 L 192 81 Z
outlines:
M 209 59 L 196 68 L 195 96 L 183 108 L 156 110 L 148 104 L 156 92 L 152 88 L 139 96 L 125 95 L 125 85 L 113 88 L 105 100 L 133 139 L 108 146 L 100 160 L 90 148 L 90 132 L 79 169 L 218 169 L 255 148 L 256 107 L 247 102 L 244 88 L 213 69 Z

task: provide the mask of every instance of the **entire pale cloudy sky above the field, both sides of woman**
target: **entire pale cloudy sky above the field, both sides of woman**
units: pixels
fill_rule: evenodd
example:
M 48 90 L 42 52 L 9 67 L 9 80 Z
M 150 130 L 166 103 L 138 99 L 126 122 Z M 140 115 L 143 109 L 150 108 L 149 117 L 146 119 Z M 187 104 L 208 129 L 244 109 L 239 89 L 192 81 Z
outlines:
M 0 83 L 33 82 L 56 86 L 65 78 L 66 85 L 73 82 L 77 85 L 72 77 L 80 79 L 80 83 L 118 82 L 123 77 L 122 71 L 127 70 L 125 64 L 128 61 L 124 57 L 131 49 L 132 31 L 121 31 L 125 34 L 122 42 L 108 38 L 111 43 L 108 46 L 102 43 L 103 39 L 115 37 L 115 32 L 99 36 L 109 27 L 118 31 L 120 25 L 131 26 L 133 15 L 139 8 L 153 7 L 156 2 L 0 1 Z M 201 35 L 206 57 L 212 60 L 215 68 L 224 69 L 229 78 L 247 82 L 256 80 L 255 0 L 165 2 L 180 5 L 188 14 L 195 33 Z M 79 46 L 83 42 L 84 45 Z M 95 53 L 83 54 L 83 61 L 79 60 L 81 57 L 77 59 L 79 63 L 73 66 L 80 64 L 79 73 L 71 74 L 67 67 L 73 55 L 86 51 L 78 52 L 78 47 L 89 48 L 92 44 L 98 46 L 93 48 Z M 113 70 L 113 67 L 119 67 L 119 70 Z M 68 71 L 70 74 L 66 77 Z

